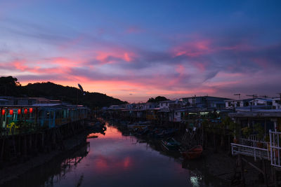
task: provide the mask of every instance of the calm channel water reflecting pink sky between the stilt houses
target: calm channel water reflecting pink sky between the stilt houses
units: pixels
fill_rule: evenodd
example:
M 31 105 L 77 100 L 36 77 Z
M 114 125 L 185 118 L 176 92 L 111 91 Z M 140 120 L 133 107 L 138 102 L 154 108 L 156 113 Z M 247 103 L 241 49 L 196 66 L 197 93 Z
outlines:
M 182 163 L 181 158 L 165 155 L 157 144 L 124 137 L 112 126 L 107 126 L 105 135 L 96 135 L 87 139 L 87 146 L 6 186 L 223 186 L 200 172 L 202 160 Z

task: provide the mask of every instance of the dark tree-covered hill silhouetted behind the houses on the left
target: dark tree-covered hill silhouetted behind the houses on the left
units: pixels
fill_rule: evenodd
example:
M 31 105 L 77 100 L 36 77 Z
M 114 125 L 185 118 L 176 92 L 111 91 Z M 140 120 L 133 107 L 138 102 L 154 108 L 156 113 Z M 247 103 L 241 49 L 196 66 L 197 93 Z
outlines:
M 22 86 L 17 81 L 18 79 L 12 76 L 0 77 L 0 95 L 60 99 L 63 102 L 70 102 L 71 104 L 84 104 L 90 108 L 127 103 L 98 92 L 85 92 L 85 95 L 83 95 L 78 88 L 51 82 L 29 83 L 28 85 Z

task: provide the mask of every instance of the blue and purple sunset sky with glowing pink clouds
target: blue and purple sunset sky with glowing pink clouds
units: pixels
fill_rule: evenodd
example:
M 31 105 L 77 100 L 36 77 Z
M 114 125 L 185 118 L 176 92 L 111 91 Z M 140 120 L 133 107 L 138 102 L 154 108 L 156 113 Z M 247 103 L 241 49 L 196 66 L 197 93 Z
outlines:
M 281 1 L 2 1 L 0 76 L 129 102 L 281 92 Z

